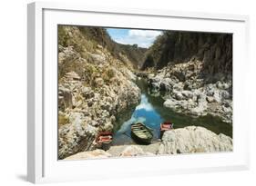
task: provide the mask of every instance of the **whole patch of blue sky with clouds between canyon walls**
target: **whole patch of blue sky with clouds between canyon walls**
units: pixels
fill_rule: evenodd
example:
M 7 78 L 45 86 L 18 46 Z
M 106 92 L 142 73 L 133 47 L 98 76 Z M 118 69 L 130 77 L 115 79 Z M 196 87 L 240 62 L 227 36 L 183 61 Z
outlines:
M 138 44 L 140 47 L 148 48 L 159 36 L 161 31 L 108 28 L 108 34 L 119 44 Z

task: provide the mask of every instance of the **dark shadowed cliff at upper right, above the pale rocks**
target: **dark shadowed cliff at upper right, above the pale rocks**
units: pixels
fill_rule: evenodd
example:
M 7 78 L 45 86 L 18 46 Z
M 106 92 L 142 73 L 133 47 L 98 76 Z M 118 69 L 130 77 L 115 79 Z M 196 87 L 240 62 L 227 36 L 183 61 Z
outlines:
M 142 69 L 160 69 L 195 59 L 203 63 L 203 73 L 231 73 L 232 34 L 165 31 L 146 55 Z

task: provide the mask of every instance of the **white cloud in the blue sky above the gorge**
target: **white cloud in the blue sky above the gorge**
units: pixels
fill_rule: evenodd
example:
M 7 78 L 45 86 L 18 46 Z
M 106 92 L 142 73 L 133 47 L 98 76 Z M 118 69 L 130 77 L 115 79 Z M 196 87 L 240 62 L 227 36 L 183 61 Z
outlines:
M 156 37 L 162 34 L 161 31 L 152 30 L 128 30 L 128 34 L 114 38 L 119 44 L 138 44 L 140 47 L 148 48 L 153 44 Z

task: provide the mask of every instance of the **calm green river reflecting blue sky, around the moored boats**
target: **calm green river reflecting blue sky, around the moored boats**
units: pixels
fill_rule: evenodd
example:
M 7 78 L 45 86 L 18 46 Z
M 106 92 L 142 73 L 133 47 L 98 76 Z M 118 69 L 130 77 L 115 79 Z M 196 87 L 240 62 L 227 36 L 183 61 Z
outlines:
M 153 141 L 159 139 L 159 126 L 164 121 L 173 122 L 175 129 L 196 125 L 203 126 L 217 134 L 223 133 L 232 137 L 232 126 L 229 123 L 221 122 L 219 117 L 207 115 L 193 118 L 182 113 L 174 113 L 171 109 L 163 106 L 164 100 L 161 96 L 153 96 L 149 93 L 145 79 L 139 79 L 136 83 L 141 90 L 140 103 L 133 111 L 118 117 L 118 129 L 113 136 L 112 145 L 135 143 L 130 138 L 130 124 L 133 122 L 143 122 L 151 128 L 154 133 Z M 124 120 L 128 114 L 131 116 L 128 120 Z

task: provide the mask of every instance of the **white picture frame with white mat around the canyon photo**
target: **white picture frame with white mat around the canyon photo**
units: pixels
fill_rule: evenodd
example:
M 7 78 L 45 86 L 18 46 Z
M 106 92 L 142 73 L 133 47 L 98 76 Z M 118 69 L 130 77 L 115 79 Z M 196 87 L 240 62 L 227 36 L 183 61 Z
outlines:
M 249 17 L 166 10 L 32 3 L 27 12 L 27 180 L 87 181 L 130 176 L 249 169 L 249 122 L 244 93 Z M 86 18 L 85 18 L 86 17 Z M 115 19 L 113 19 L 115 18 Z M 172 29 L 233 34 L 233 152 L 158 157 L 57 161 L 57 24 Z M 242 74 L 242 75 L 241 75 Z M 238 108 L 244 108 L 238 110 Z M 239 127 L 240 123 L 243 127 Z M 246 126 L 246 127 L 244 127 Z M 150 166 L 149 165 L 150 162 Z M 136 170 L 132 164 L 141 166 Z M 165 166 L 162 166 L 165 165 Z M 108 166 L 106 172 L 99 171 Z

